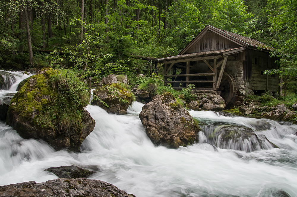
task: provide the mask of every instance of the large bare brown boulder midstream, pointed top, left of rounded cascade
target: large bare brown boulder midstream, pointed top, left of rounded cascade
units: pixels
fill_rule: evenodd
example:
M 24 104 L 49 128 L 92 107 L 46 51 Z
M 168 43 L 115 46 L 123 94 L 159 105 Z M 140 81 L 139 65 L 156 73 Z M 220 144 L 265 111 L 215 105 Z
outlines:
M 197 139 L 197 123 L 170 92 L 144 105 L 139 118 L 156 145 L 178 148 L 190 145 Z

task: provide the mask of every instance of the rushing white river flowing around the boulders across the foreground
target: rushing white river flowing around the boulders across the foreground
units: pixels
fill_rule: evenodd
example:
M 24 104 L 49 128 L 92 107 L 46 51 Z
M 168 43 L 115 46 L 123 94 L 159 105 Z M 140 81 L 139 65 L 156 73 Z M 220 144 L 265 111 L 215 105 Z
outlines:
M 55 151 L 44 141 L 23 139 L 1 122 L 0 185 L 45 182 L 58 177 L 44 169 L 76 165 L 97 170 L 90 179 L 109 182 L 137 197 L 281 197 L 286 195 L 282 191 L 297 196 L 297 125 L 189 111 L 204 124 L 201 130 L 206 135 L 216 125 L 244 125 L 279 148 L 244 152 L 197 143 L 169 149 L 155 146 L 146 135 L 138 117 L 142 106 L 135 102 L 127 115 L 114 115 L 88 105 L 96 126 L 80 153 Z M 203 133 L 199 138 L 206 141 Z

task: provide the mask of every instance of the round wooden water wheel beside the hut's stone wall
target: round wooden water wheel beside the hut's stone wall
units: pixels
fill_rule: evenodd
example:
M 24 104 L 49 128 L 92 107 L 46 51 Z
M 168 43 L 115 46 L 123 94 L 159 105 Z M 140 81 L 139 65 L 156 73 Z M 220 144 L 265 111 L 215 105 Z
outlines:
M 221 92 L 222 98 L 228 104 L 232 102 L 236 94 L 236 83 L 232 75 L 224 72 L 218 91 Z

